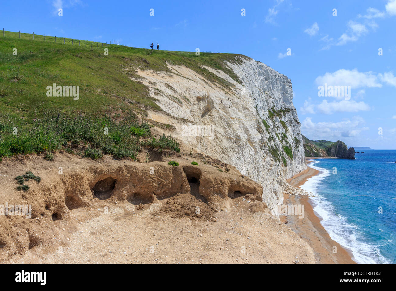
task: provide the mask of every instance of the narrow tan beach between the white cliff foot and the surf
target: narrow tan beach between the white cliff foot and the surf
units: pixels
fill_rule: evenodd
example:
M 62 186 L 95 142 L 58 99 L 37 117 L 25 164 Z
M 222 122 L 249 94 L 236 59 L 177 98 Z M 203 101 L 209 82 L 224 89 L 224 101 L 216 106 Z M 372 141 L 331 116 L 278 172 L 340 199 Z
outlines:
M 307 164 L 314 158 L 305 158 Z M 318 175 L 320 171 L 308 167 L 306 170 L 294 175 L 287 182 L 292 186 L 303 185 L 310 177 Z M 305 195 L 290 195 L 284 193 L 284 204 L 304 205 L 305 216 L 298 219 L 296 216 L 281 216 L 281 221 L 296 232 L 303 240 L 312 247 L 315 255 L 315 262 L 320 264 L 356 264 L 352 260 L 352 253 L 332 240 L 322 224 L 321 218 L 316 215 L 312 207 L 312 201 Z M 337 253 L 333 253 L 333 247 L 337 247 Z

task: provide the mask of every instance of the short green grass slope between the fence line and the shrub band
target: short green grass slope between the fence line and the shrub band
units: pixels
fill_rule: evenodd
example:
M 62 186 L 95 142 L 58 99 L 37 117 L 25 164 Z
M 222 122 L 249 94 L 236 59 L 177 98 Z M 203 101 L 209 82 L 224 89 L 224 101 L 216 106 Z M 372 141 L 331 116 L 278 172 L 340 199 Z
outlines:
M 206 79 L 223 86 L 228 82 L 202 67 L 224 70 L 237 80 L 223 61 L 235 62 L 235 56 L 225 53 L 151 51 L 35 35 L 5 32 L 0 37 L 0 106 L 2 112 L 31 117 L 32 112 L 80 111 L 103 114 L 128 109 L 160 110 L 149 96 L 148 88 L 137 77 L 134 68 L 168 71 L 167 63 L 185 65 Z M 87 43 L 87 46 L 85 44 Z M 92 44 L 92 48 L 91 48 Z M 105 55 L 104 49 L 109 49 Z M 17 49 L 17 55 L 13 55 Z M 79 86 L 80 100 L 46 96 L 46 87 L 53 83 L 61 86 Z

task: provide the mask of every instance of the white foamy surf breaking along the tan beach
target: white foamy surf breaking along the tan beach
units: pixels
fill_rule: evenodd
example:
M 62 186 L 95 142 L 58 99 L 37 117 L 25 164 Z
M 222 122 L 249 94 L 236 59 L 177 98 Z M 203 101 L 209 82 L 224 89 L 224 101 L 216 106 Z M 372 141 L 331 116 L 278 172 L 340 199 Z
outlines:
M 358 263 L 390 263 L 389 260 L 381 255 L 376 246 L 361 242 L 358 239 L 361 237 L 359 227 L 348 223 L 346 217 L 340 214 L 337 215 L 331 202 L 318 192 L 319 184 L 330 175 L 331 172 L 315 165 L 320 161 L 311 161 L 312 162 L 308 164 L 308 166 L 320 171 L 320 174 L 309 178 L 301 188 L 314 194 L 315 197 L 310 198 L 314 203 L 314 211 L 323 219 L 320 223 L 326 229 L 331 239 L 343 245 L 345 248 L 350 249 L 354 261 Z

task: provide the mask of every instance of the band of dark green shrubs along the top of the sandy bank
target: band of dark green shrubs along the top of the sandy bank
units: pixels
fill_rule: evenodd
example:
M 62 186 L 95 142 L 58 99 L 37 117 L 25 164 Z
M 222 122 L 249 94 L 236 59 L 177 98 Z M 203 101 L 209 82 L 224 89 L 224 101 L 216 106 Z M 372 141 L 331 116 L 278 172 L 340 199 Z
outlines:
M 34 118 L 30 124 L 18 125 L 18 135 L 11 134 L 12 127 L 7 124 L 0 127 L 0 161 L 4 156 L 49 153 L 62 148 L 72 153 L 68 145 L 77 148 L 75 152 L 78 154 L 82 143 L 89 148 L 101 149 L 105 154 L 113 154 L 116 158 L 131 157 L 134 160 L 141 145 L 180 152 L 175 137 L 163 135 L 146 139 L 151 136 L 150 125 L 144 121 L 138 122 L 133 116 L 118 121 L 109 116 L 48 114 L 42 119 Z M 109 129 L 108 134 L 104 134 L 105 128 Z M 141 137 L 144 139 L 140 140 Z M 89 149 L 86 154 L 94 159 L 101 157 L 99 150 Z M 50 158 L 49 155 L 47 157 Z

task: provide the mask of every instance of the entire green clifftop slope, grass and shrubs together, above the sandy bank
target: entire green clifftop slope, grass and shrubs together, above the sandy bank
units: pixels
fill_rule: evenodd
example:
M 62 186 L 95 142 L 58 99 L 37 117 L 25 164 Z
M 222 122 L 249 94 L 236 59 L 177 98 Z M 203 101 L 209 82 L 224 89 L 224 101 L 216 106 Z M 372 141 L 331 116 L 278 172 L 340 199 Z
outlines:
M 65 42 L 65 43 L 64 43 Z M 80 46 L 79 46 L 80 43 Z M 103 47 L 102 47 L 103 46 Z M 108 49 L 108 55 L 105 54 Z M 153 139 L 139 117 L 160 110 L 135 69 L 169 71 L 184 65 L 206 80 L 232 84 L 203 66 L 225 71 L 237 55 L 106 45 L 85 40 L 5 32 L 0 36 L 0 158 L 62 147 L 87 156 L 101 152 L 136 158 L 141 145 L 178 150 L 177 141 Z M 243 56 L 244 57 L 244 56 Z M 48 86 L 78 86 L 78 99 L 48 96 Z M 73 122 L 76 120 L 77 122 Z M 108 134 L 103 135 L 106 128 Z

